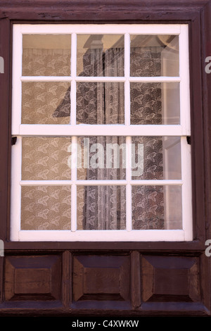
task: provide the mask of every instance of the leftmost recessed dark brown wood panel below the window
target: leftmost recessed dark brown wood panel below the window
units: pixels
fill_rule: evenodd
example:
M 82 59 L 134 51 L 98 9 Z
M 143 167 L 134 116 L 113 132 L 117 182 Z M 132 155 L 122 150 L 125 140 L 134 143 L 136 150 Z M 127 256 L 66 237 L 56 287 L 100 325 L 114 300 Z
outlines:
M 5 263 L 6 300 L 60 299 L 59 256 L 10 256 Z

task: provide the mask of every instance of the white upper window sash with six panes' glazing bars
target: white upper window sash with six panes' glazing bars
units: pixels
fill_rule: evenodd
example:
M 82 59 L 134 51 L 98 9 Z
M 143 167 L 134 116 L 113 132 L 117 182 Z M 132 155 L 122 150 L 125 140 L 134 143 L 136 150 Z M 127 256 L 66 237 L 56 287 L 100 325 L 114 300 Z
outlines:
M 96 29 L 97 27 L 97 29 Z M 96 31 L 97 30 L 97 31 Z M 124 77 L 77 77 L 77 35 L 80 34 L 124 35 Z M 23 35 L 25 34 L 70 34 L 71 35 L 71 75 L 56 76 L 22 76 Z M 178 77 L 130 77 L 129 76 L 129 35 L 179 35 L 179 76 Z M 21 124 L 21 92 L 22 82 L 70 82 L 71 115 L 69 125 L 27 125 Z M 117 125 L 121 135 L 133 135 L 141 126 L 141 135 L 191 135 L 189 105 L 189 73 L 188 73 L 188 25 L 13 25 L 13 117 L 12 135 L 81 135 L 82 128 L 76 125 L 76 84 L 77 82 L 122 82 L 124 83 L 125 124 Z M 179 125 L 130 125 L 129 120 L 129 84 L 131 82 L 178 82 L 180 95 Z M 71 125 L 71 128 L 70 128 Z M 107 135 L 106 127 L 86 125 L 86 135 L 95 130 Z M 121 127 L 120 127 L 121 126 Z M 118 128 L 119 127 L 119 128 Z M 83 129 L 84 130 L 84 129 Z M 103 130 L 103 131 L 102 131 Z M 145 133 L 146 132 L 146 133 Z M 135 133 L 136 135 L 136 133 Z M 140 135 L 140 131 L 139 131 Z

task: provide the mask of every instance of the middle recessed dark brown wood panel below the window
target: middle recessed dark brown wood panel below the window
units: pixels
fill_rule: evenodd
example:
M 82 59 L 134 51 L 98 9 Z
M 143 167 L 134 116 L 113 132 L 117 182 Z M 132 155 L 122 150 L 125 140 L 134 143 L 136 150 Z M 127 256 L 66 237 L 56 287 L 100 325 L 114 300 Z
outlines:
M 74 301 L 129 301 L 129 256 L 75 256 Z

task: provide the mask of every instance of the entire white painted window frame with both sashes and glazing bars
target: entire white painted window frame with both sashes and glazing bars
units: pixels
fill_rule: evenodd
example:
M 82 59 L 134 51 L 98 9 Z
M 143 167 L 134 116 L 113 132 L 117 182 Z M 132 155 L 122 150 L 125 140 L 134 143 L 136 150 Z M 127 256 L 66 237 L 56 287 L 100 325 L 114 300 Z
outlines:
M 22 76 L 22 36 L 24 34 L 71 34 L 71 75 L 65 77 Z M 124 34 L 124 77 L 77 77 L 77 35 Z M 179 77 L 130 77 L 129 35 L 179 35 Z M 21 85 L 29 81 L 67 81 L 71 84 L 71 115 L 68 125 L 21 124 Z M 124 125 L 76 125 L 76 82 L 124 82 Z M 130 82 L 179 82 L 179 125 L 130 125 Z M 188 25 L 13 25 L 13 89 L 12 135 L 18 137 L 12 146 L 11 168 L 11 240 L 12 241 L 82 241 L 82 242 L 154 242 L 189 241 L 193 239 L 191 203 L 191 146 L 186 137 L 191 135 L 188 70 Z M 111 130 L 111 128 L 113 130 Z M 126 180 L 77 180 L 77 169 L 72 166 L 71 180 L 21 180 L 21 141 L 29 136 L 71 136 L 72 144 L 79 136 L 124 136 L 127 152 L 133 136 L 181 137 L 181 180 L 132 180 L 127 167 Z M 75 144 L 76 146 L 76 144 Z M 127 161 L 129 158 L 127 158 Z M 129 162 L 129 161 L 128 161 Z M 73 165 L 73 164 L 72 164 Z M 126 230 L 77 230 L 77 185 L 126 185 Z M 21 187 L 27 185 L 71 185 L 71 230 L 20 230 Z M 132 185 L 181 185 L 182 230 L 132 230 Z

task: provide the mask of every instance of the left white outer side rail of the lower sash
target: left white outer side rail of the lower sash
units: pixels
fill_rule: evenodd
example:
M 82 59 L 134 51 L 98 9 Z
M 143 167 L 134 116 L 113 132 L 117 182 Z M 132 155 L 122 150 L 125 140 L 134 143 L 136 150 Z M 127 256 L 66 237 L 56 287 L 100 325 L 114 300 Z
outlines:
M 11 240 L 19 239 L 20 210 L 21 210 L 21 145 L 22 139 L 18 137 L 15 145 L 11 147 Z

